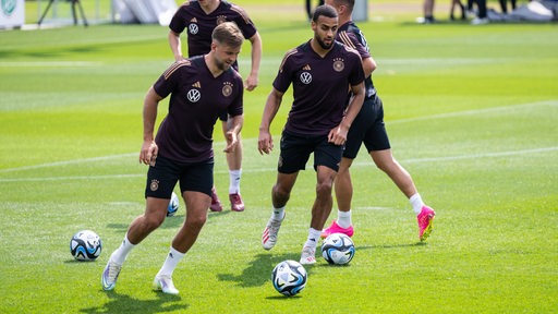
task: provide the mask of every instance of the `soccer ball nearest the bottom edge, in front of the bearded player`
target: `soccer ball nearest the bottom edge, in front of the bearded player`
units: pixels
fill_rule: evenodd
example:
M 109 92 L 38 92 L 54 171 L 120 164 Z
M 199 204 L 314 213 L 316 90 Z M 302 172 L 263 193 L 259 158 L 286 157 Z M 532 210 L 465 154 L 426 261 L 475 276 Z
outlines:
M 306 269 L 295 261 L 287 259 L 275 266 L 271 273 L 274 288 L 287 297 L 298 294 L 306 286 Z

